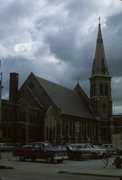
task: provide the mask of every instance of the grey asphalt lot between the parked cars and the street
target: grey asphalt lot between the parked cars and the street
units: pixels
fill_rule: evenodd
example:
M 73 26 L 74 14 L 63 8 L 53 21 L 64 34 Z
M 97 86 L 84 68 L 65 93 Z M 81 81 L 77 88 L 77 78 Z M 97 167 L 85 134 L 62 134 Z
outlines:
M 121 157 L 122 158 L 122 157 Z M 85 175 L 94 177 L 108 177 L 118 178 L 122 180 L 122 168 L 116 169 L 112 162 L 114 158 L 109 160 L 108 166 L 104 166 L 103 160 L 84 160 L 84 161 L 65 161 L 62 164 L 48 165 L 44 162 L 19 162 L 17 157 L 11 156 L 11 154 L 3 153 L 0 159 L 0 169 L 21 169 L 29 168 L 33 171 L 37 166 L 41 166 L 41 170 L 44 172 L 52 173 L 55 171 L 60 174 L 70 175 Z M 40 165 L 39 165 L 40 164 Z

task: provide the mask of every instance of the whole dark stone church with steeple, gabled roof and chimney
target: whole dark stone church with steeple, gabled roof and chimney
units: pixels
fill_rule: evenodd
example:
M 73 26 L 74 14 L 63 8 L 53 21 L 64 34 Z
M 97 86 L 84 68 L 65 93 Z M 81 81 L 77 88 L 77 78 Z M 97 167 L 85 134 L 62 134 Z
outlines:
M 18 89 L 19 74 L 10 73 L 9 100 L 1 102 L 1 140 L 110 143 L 114 130 L 111 75 L 100 23 L 91 69 L 90 97 L 79 83 L 69 89 L 34 73 Z

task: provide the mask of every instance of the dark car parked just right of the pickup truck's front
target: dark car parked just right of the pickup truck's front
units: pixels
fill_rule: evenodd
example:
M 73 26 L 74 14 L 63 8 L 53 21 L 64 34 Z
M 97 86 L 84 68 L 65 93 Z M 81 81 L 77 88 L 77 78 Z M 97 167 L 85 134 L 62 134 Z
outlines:
M 78 144 L 67 144 L 68 159 L 82 160 L 91 158 L 91 152 L 88 149 L 78 148 Z

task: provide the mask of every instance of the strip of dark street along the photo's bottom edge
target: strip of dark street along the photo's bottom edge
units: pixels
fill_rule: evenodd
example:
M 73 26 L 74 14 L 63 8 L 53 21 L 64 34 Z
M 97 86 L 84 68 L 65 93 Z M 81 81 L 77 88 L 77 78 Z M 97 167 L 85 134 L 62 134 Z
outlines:
M 22 172 L 16 170 L 0 170 L 1 180 L 118 180 L 118 178 L 106 178 L 97 176 L 81 176 L 81 175 L 70 175 L 70 174 L 44 174 L 34 172 Z

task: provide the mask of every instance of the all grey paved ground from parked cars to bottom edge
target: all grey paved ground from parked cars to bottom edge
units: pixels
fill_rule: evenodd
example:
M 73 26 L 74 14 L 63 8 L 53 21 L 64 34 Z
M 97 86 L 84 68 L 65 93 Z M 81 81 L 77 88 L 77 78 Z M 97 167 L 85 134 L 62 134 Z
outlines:
M 63 163 L 48 164 L 45 161 L 37 162 L 26 161 L 20 162 L 18 157 L 13 157 L 9 153 L 1 153 L 0 165 L 13 167 L 13 169 L 0 169 L 2 180 L 19 180 L 19 179 L 75 179 L 81 180 L 115 180 L 119 179 L 113 176 L 122 176 L 121 169 L 114 167 L 103 168 L 102 160 L 65 160 Z M 84 176 L 85 175 L 85 176 Z M 90 176 L 86 176 L 90 175 Z M 94 176 L 95 175 L 95 176 Z M 97 176 L 96 176 L 97 175 Z M 102 176 L 99 176 L 102 175 Z M 108 176 L 109 175 L 109 176 Z M 82 178 L 81 178 L 82 177 Z

